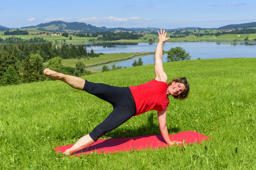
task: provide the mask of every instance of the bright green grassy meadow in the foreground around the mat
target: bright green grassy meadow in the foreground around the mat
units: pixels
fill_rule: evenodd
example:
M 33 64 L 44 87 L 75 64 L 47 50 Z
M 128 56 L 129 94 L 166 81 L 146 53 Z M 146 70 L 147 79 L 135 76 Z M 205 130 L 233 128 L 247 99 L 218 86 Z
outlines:
M 115 154 L 64 157 L 70 145 L 112 111 L 95 96 L 61 81 L 0 87 L 0 169 L 255 169 L 256 59 L 164 64 L 169 79 L 186 77 L 185 101 L 170 98 L 169 133 L 194 130 L 202 144 Z M 154 65 L 91 74 L 89 81 L 134 86 L 154 79 Z M 153 120 L 151 117 L 153 116 Z M 156 111 L 128 120 L 102 138 L 160 135 Z

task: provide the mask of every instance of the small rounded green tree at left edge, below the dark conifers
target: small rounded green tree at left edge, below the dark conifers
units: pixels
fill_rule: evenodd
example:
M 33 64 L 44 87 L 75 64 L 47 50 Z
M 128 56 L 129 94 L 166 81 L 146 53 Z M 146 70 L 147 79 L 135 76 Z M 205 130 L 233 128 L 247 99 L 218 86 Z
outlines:
M 14 69 L 14 67 L 10 66 L 7 70 L 4 76 L 1 79 L 2 85 L 7 84 L 18 84 L 18 73 Z

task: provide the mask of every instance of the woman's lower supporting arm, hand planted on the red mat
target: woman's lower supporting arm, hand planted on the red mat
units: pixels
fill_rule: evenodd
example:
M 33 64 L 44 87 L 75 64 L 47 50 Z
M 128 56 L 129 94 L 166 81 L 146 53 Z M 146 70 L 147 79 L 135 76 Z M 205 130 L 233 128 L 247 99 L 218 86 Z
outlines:
M 165 142 L 169 146 L 173 146 L 175 143 L 176 144 L 182 144 L 182 142 L 177 142 L 177 141 L 171 141 L 170 140 L 168 129 L 167 129 L 167 126 L 166 126 L 166 113 L 167 113 L 167 108 L 164 111 L 158 111 L 157 112 L 161 135 L 164 137 Z

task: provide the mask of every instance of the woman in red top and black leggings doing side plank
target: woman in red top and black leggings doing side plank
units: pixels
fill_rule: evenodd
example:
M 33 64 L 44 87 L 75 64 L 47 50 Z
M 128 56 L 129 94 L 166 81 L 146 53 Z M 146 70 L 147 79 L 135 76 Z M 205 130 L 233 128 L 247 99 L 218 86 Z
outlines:
M 166 143 L 170 146 L 175 143 L 180 143 L 169 139 L 169 133 L 166 127 L 166 113 L 169 105 L 168 96 L 171 95 L 174 96 L 174 98 L 182 100 L 188 96 L 189 86 L 185 77 L 174 79 L 170 81 L 169 84 L 166 84 L 167 76 L 164 72 L 161 60 L 164 42 L 170 39 L 166 38 L 166 35 L 165 30 L 160 30 L 159 42 L 155 53 L 154 69 L 156 78 L 146 84 L 116 87 L 107 84 L 95 84 L 79 77 L 61 74 L 50 69 L 43 71 L 44 74 L 50 76 L 53 80 L 63 81 L 74 89 L 87 91 L 90 94 L 108 101 L 114 108 L 112 113 L 110 113 L 100 125 L 97 125 L 89 134 L 81 137 L 80 140 L 78 140 L 73 147 L 67 149 L 64 154 L 72 154 L 80 149 L 89 147 L 102 135 L 122 125 L 122 123 L 132 118 L 132 116 L 150 110 L 158 111 L 159 128 Z

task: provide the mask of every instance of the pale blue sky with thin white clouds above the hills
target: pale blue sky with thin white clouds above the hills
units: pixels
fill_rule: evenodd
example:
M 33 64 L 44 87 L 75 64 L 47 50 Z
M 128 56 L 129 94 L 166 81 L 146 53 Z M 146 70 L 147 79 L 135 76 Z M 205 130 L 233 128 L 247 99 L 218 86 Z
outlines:
M 107 28 L 218 28 L 256 22 L 255 8 L 255 0 L 0 0 L 0 26 L 60 20 Z

